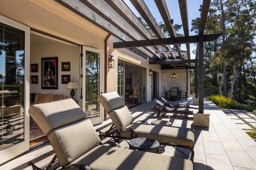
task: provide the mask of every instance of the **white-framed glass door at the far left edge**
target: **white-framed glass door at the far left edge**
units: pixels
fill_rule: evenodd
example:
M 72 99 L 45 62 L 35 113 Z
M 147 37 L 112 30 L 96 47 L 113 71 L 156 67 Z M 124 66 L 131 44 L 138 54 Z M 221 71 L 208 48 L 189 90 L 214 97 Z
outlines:
M 10 20 L 21 30 L 1 20 L 8 19 L 0 16 L 0 164 L 29 149 L 29 76 L 25 76 L 29 43 L 25 44 L 25 37 L 29 41 L 30 34 L 29 27 Z

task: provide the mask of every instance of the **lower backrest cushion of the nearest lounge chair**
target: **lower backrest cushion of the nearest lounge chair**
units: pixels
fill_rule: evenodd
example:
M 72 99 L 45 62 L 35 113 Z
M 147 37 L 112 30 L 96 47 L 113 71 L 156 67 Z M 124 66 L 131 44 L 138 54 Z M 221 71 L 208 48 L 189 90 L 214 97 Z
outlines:
M 55 150 L 60 166 L 74 161 L 101 142 L 88 118 L 56 129 L 48 134 L 48 139 Z

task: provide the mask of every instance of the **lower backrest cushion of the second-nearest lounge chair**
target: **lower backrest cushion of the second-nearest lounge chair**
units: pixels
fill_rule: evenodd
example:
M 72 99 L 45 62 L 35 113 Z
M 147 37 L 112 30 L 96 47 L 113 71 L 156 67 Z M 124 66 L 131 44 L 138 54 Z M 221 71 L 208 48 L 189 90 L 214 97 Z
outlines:
M 127 106 L 114 109 L 108 115 L 118 131 L 126 128 L 134 120 Z

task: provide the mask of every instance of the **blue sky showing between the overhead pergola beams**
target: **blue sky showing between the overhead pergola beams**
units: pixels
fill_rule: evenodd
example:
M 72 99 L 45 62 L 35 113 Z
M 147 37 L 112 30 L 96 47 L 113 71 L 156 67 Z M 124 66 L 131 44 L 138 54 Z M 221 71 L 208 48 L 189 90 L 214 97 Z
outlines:
M 129 8 L 134 12 L 134 14 L 137 17 L 141 17 L 140 14 L 137 12 L 137 10 L 134 8 L 130 0 L 124 0 L 124 2 L 129 6 Z M 157 22 L 164 21 L 162 20 L 162 17 L 158 11 L 158 8 L 156 7 L 156 4 L 154 0 L 144 0 L 144 2 L 147 4 L 150 12 L 156 18 Z M 203 3 L 203 0 L 187 0 L 187 8 L 188 8 L 188 28 L 191 29 L 191 22 L 192 20 L 200 17 L 200 12 L 198 9 L 200 8 L 200 4 Z M 174 20 L 174 24 L 180 24 L 182 25 L 182 20 L 180 16 L 180 7 L 178 0 L 166 0 L 166 4 L 168 6 L 168 10 L 170 12 L 171 18 Z M 180 29 L 178 33 L 181 33 L 184 35 L 183 27 Z M 189 30 L 189 35 L 196 35 L 194 32 L 191 32 Z M 190 59 L 195 59 L 195 54 L 192 53 L 192 51 L 196 48 L 194 44 L 190 44 Z M 186 45 L 182 44 L 181 49 L 186 51 Z

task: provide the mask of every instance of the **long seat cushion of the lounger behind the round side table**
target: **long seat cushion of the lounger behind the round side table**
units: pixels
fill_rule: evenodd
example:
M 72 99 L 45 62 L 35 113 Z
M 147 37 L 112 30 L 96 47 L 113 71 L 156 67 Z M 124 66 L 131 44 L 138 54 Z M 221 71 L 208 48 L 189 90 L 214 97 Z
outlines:
M 132 132 L 129 129 L 136 130 L 136 137 L 146 137 L 163 143 L 194 147 L 194 132 L 189 128 L 134 123 L 120 131 L 120 136 L 132 138 Z

